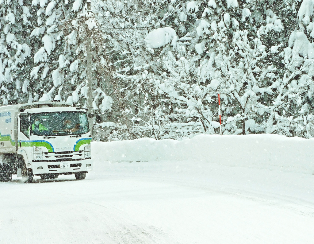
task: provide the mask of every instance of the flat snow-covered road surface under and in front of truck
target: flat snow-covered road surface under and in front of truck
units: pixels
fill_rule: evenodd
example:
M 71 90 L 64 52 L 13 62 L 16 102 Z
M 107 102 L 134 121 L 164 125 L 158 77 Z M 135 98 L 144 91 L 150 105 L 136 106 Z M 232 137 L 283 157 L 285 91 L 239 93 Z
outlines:
M 313 180 L 191 172 L 188 162 L 98 162 L 80 181 L 14 178 L 0 183 L 0 243 L 313 243 Z

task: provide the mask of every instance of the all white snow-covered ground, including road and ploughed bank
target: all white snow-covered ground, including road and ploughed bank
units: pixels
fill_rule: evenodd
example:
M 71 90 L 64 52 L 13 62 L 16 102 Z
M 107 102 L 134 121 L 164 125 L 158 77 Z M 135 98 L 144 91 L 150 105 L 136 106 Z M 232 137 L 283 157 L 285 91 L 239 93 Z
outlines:
M 314 139 L 92 143 L 94 170 L 0 183 L 0 243 L 313 243 Z

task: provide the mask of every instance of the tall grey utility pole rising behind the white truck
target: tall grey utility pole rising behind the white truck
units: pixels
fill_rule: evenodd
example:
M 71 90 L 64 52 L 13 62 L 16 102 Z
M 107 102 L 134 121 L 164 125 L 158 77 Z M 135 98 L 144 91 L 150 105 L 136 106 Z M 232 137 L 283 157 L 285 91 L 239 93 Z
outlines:
M 91 0 L 87 0 L 87 11 L 90 15 L 91 10 Z M 87 54 L 87 109 L 89 117 L 94 117 L 93 109 L 93 79 L 92 79 L 92 31 L 89 30 L 87 26 L 87 45 L 86 45 L 86 54 Z

